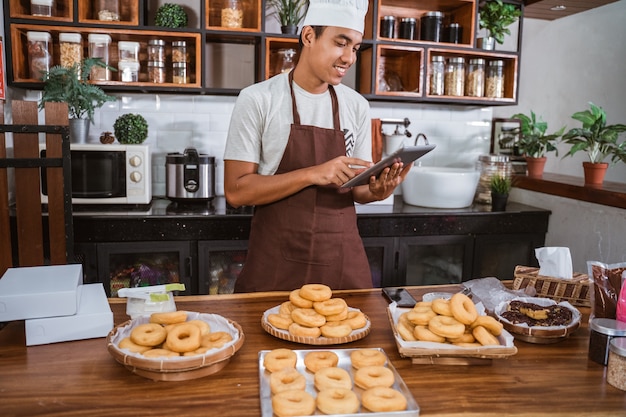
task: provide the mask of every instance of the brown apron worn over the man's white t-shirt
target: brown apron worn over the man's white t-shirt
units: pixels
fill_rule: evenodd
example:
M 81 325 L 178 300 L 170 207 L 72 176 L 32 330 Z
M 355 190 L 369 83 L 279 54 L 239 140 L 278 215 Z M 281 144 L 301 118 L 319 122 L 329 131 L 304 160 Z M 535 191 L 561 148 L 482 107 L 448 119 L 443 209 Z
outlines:
M 277 174 L 318 165 L 346 154 L 337 94 L 329 86 L 334 129 L 300 124 L 289 74 L 294 123 Z M 306 283 L 332 289 L 371 288 L 352 192 L 310 186 L 256 206 L 250 248 L 235 292 L 290 291 Z

